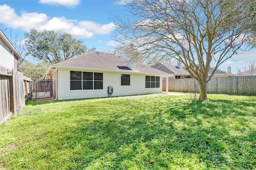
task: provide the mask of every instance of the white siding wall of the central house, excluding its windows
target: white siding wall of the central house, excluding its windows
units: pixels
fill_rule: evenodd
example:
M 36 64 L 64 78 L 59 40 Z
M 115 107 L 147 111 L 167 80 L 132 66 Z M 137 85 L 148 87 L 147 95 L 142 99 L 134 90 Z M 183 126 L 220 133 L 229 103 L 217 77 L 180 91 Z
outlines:
M 72 69 L 71 71 L 88 71 Z M 121 86 L 121 73 L 88 71 L 103 73 L 103 89 L 97 90 L 70 90 L 70 70 L 58 70 L 58 100 L 84 99 L 94 97 L 108 97 L 108 86 L 113 87 L 112 96 L 138 95 L 147 93 L 162 93 L 162 77 L 160 77 L 160 88 L 145 88 L 145 76 L 141 74 L 130 74 L 130 86 Z M 129 73 L 123 73 L 129 74 Z

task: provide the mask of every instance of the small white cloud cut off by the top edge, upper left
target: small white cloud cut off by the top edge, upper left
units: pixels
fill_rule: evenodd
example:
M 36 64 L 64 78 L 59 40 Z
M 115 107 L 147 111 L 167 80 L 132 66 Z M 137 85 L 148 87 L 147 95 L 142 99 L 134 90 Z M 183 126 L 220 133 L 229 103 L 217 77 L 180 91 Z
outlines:
M 81 0 L 40 0 L 41 4 L 49 4 L 49 5 L 62 5 L 68 6 L 69 8 L 74 8 L 80 4 Z

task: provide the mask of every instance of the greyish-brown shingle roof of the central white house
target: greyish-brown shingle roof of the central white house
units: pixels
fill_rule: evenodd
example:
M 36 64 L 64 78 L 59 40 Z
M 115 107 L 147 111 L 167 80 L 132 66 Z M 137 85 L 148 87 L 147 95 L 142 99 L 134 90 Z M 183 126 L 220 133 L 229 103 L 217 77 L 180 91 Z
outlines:
M 98 51 L 89 51 L 72 59 L 51 65 L 51 67 L 86 68 L 105 71 L 122 71 L 128 73 L 149 73 L 165 76 L 168 75 L 163 71 L 154 69 L 141 63 L 138 63 L 136 70 L 132 70 L 127 68 L 127 62 L 124 57 Z

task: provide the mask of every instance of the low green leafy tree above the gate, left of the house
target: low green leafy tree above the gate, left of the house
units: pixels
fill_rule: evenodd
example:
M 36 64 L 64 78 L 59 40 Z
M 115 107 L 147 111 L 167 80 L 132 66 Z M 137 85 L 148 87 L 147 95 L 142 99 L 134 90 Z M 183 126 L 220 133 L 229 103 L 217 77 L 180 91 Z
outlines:
M 50 63 L 47 62 L 33 64 L 24 60 L 19 66 L 19 71 L 22 72 L 24 76 L 32 78 L 32 80 L 43 79 L 49 66 Z

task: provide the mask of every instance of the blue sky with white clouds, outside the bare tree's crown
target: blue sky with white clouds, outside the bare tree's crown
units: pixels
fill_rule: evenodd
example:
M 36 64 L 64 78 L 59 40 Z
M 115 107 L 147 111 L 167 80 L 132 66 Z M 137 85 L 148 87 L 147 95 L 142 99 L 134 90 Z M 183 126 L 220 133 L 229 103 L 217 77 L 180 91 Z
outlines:
M 114 24 L 112 14 L 125 15 L 119 0 L 1 0 L 0 29 L 8 36 L 10 28 L 18 32 L 20 40 L 24 33 L 35 28 L 68 32 L 75 38 L 82 39 L 88 48 L 97 51 L 114 51 L 116 42 L 111 33 Z M 236 73 L 242 64 L 256 58 L 256 49 L 234 55 L 225 61 L 219 69 Z M 26 58 L 27 59 L 27 58 Z

